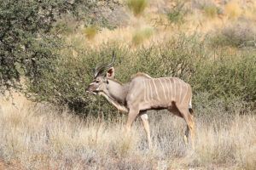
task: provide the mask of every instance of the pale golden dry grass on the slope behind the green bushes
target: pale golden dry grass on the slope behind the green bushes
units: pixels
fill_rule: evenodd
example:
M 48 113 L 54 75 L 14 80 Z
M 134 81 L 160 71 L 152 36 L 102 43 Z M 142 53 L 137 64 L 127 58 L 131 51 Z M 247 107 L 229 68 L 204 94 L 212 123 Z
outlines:
M 128 6 L 127 4 L 123 11 L 128 17 L 126 20 L 127 25 L 120 26 L 111 31 L 106 28 L 102 28 L 101 31 L 96 31 L 95 27 L 79 28 L 78 30 L 65 35 L 65 37 L 67 37 L 67 42 L 79 47 L 91 46 L 94 48 L 98 48 L 102 43 L 111 41 L 128 46 L 133 45 L 136 42 L 138 42 L 138 44 L 147 45 L 148 42 L 162 42 L 162 37 L 170 37 L 179 32 L 185 32 L 186 34 L 191 35 L 197 31 L 202 34 L 207 34 L 212 30 L 222 29 L 225 26 L 232 24 L 232 22 L 240 16 L 243 20 L 252 20 L 252 24 L 254 25 L 256 21 L 254 17 L 256 14 L 256 3 L 253 1 L 241 3 L 232 0 L 225 5 L 224 3 L 219 3 L 220 1 L 180 1 L 184 2 L 186 8 L 191 9 L 189 14 L 184 16 L 183 20 L 185 20 L 186 24 L 182 26 L 177 26 L 178 24 L 173 23 L 170 24 L 165 11 L 166 9 L 173 10 L 173 3 L 176 1 L 132 0 L 127 2 L 134 5 L 134 7 L 137 7 L 137 10 L 140 11 L 140 17 L 134 17 L 133 14 L 129 14 L 128 8 L 125 8 Z M 218 14 L 219 9 L 224 11 L 223 14 Z M 137 33 L 142 30 L 141 28 L 143 27 L 153 28 L 154 35 L 146 38 L 148 41 L 133 40 L 145 39 L 142 38 L 141 33 Z

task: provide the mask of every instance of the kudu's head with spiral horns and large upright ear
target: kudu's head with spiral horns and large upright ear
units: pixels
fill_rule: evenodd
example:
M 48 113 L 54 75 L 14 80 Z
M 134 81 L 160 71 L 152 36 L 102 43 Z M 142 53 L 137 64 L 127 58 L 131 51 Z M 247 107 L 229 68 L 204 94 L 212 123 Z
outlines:
M 112 61 L 108 65 L 104 65 L 104 55 L 102 55 L 102 62 L 96 65 L 93 69 L 94 79 L 90 82 L 89 86 L 85 89 L 86 92 L 92 94 L 98 94 L 99 92 L 106 92 L 108 86 L 108 78 L 114 77 L 114 69 L 112 67 L 114 61 L 114 52 L 112 56 Z M 102 76 L 102 72 L 107 70 L 106 75 Z

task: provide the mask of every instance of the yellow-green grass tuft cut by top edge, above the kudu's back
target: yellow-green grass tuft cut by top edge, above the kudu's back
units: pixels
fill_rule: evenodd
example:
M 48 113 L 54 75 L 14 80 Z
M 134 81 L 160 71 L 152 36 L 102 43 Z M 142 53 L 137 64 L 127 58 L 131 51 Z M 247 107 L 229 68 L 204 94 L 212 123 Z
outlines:
M 128 0 L 127 5 L 135 16 L 139 16 L 143 14 L 144 9 L 148 6 L 148 0 Z

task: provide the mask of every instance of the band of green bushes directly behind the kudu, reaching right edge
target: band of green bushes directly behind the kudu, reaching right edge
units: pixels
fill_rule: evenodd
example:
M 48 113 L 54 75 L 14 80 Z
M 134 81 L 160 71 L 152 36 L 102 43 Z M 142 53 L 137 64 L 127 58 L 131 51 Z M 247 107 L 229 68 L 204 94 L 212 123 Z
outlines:
M 84 92 L 93 79 L 92 68 L 102 59 L 102 51 L 110 61 L 114 49 L 117 55 L 115 77 L 120 82 L 131 81 L 131 75 L 137 72 L 145 72 L 151 77 L 180 77 L 191 84 L 195 96 L 208 93 L 209 99 L 221 99 L 224 105 L 229 105 L 234 99 L 255 105 L 255 54 L 242 52 L 227 56 L 219 51 L 220 58 L 212 59 L 204 48 L 205 42 L 198 39 L 197 36 L 181 35 L 137 50 L 115 42 L 102 44 L 101 51 L 95 48 L 67 48 L 61 51 L 65 57 L 51 62 L 50 69 L 42 68 L 40 80 L 26 82 L 26 95 L 34 101 L 68 105 L 85 115 L 116 115 L 117 111 L 105 99 Z M 72 55 L 73 50 L 78 56 Z

